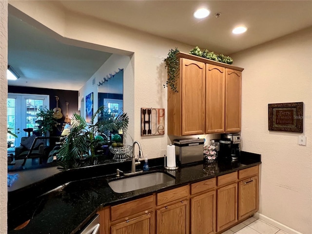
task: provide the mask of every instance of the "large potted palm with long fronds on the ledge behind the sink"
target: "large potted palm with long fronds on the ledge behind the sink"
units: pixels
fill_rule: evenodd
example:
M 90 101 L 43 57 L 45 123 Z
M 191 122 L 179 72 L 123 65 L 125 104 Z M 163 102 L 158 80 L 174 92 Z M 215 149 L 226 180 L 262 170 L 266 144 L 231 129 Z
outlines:
M 129 123 L 127 113 L 118 116 L 105 115 L 94 123 L 95 117 L 104 109 L 104 106 L 98 108 L 91 118 L 91 124 L 88 124 L 86 119 L 77 113 L 73 114 L 71 132 L 62 141 L 58 154 L 59 160 L 75 160 L 83 158 L 83 155 L 90 155 L 94 158 L 96 148 L 108 142 L 108 137 L 105 135 L 107 131 L 126 131 Z

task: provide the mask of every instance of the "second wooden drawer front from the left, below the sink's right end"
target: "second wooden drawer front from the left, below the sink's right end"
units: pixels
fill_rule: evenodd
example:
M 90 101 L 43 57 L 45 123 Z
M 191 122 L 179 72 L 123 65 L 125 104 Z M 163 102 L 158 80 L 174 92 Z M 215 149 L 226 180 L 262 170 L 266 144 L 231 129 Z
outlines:
M 188 185 L 159 193 L 157 194 L 157 206 L 187 197 L 188 195 L 189 195 Z

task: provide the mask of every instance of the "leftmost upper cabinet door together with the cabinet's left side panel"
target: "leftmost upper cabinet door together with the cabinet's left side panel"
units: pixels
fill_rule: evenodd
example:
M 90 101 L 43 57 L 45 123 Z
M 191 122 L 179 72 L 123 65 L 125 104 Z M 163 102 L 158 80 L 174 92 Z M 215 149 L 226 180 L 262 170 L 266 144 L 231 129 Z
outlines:
M 205 63 L 180 58 L 177 90 L 168 87 L 168 134 L 204 134 Z

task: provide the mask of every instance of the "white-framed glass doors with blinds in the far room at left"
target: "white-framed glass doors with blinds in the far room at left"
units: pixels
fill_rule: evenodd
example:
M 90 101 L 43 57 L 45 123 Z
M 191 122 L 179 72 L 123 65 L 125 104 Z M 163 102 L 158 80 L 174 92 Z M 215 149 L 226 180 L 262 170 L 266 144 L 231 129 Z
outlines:
M 23 131 L 23 129 L 37 129 L 37 113 L 40 108 L 44 107 L 49 109 L 48 95 L 8 94 L 7 126 L 12 129 L 20 129 L 20 131 L 11 130 L 18 135 L 18 138 L 8 134 L 7 140 L 12 141 L 14 146 L 19 146 L 20 138 L 28 136 L 28 133 Z

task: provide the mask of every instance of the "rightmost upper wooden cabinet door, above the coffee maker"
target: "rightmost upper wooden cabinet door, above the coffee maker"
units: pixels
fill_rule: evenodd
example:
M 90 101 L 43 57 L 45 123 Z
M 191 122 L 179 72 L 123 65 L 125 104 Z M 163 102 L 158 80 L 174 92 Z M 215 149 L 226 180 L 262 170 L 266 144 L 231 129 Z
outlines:
M 226 68 L 225 132 L 240 132 L 242 73 Z

